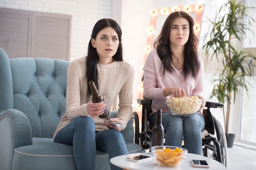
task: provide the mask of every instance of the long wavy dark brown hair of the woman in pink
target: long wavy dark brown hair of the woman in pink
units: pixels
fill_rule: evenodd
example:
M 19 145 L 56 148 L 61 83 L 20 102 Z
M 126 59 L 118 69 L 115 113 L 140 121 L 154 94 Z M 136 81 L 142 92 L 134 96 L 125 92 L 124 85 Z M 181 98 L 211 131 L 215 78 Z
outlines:
M 182 17 L 189 21 L 190 33 L 188 42 L 185 44 L 184 48 L 184 65 L 182 69 L 182 75 L 184 76 L 184 79 L 186 81 L 189 75 L 192 75 L 193 78 L 195 78 L 199 69 L 197 53 L 198 38 L 194 34 L 193 18 L 183 11 L 171 13 L 165 20 L 161 33 L 154 41 L 154 48 L 157 48 L 157 54 L 163 63 L 161 67 L 161 69 L 163 70 L 163 75 L 166 71 L 172 74 L 173 67 L 171 66 L 171 63 L 173 61 L 173 52 L 170 48 L 170 31 L 172 22 L 177 17 Z

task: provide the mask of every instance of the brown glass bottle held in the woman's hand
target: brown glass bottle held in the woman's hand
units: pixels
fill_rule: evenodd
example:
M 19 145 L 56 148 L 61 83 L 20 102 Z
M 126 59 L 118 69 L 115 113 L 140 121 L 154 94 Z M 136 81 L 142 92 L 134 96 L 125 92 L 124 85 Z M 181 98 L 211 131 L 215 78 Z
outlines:
M 101 94 L 99 94 L 98 89 L 96 88 L 94 81 L 89 81 L 89 86 L 92 92 L 92 102 L 98 103 L 98 102 L 104 102 L 104 98 Z M 99 118 L 106 118 L 108 117 L 109 112 L 108 112 L 108 107 L 106 106 L 105 112 L 99 116 Z

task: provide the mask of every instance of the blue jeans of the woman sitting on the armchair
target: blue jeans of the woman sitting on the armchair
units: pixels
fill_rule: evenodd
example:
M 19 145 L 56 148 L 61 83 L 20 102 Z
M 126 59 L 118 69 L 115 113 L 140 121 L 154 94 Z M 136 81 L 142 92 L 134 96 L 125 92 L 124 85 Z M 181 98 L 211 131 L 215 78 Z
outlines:
M 94 170 L 96 148 L 108 153 L 109 159 L 128 154 L 124 136 L 116 129 L 95 132 L 92 118 L 79 116 L 59 131 L 54 142 L 73 146 L 77 170 Z M 110 163 L 112 170 L 121 170 Z

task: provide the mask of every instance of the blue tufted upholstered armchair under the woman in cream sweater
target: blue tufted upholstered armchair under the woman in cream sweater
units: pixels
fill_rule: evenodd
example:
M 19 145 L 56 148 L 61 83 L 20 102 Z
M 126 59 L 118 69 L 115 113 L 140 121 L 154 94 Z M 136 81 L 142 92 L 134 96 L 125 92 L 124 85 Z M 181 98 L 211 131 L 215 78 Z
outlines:
M 66 110 L 68 65 L 42 58 L 9 60 L 0 48 L 0 170 L 76 169 L 72 146 L 52 142 Z M 121 132 L 129 153 L 139 153 L 132 124 Z M 96 169 L 110 170 L 108 153 L 97 150 Z

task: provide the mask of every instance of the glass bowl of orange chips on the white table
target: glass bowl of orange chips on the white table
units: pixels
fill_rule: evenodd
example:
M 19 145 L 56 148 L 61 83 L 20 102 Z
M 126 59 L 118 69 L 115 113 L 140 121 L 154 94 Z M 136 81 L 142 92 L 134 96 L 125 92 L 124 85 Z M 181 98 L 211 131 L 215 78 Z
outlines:
M 153 146 L 151 148 L 151 153 L 158 165 L 175 167 L 184 162 L 188 150 L 176 146 Z

